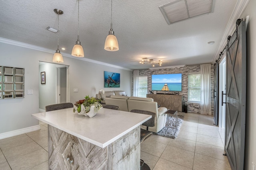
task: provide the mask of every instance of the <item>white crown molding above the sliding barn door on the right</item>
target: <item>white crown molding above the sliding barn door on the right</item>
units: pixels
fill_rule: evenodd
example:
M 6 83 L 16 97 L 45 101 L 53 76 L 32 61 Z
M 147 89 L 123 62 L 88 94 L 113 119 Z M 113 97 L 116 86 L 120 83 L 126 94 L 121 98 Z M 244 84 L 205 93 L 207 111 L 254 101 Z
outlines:
M 214 58 L 212 59 L 212 63 L 215 63 L 215 61 L 218 59 L 220 52 L 225 48 L 227 44 L 227 38 L 229 35 L 232 35 L 236 29 L 236 20 L 238 20 L 245 8 L 247 7 L 250 0 L 238 0 L 236 2 L 236 6 L 232 12 L 232 15 L 230 17 L 230 20 L 228 21 L 228 25 L 225 29 L 225 32 L 222 36 L 222 40 L 220 42 L 220 45 L 218 46 L 218 49 L 216 50 L 216 53 L 214 55 Z

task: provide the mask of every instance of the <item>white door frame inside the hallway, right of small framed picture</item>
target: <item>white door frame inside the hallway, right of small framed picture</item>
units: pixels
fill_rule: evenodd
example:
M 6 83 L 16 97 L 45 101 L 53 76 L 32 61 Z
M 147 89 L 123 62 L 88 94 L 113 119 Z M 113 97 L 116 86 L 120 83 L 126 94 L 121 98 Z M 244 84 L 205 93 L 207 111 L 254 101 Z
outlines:
M 66 68 L 66 102 L 69 102 L 69 84 L 68 84 L 68 66 L 66 65 L 61 65 L 61 66 L 56 66 L 56 71 L 57 71 L 57 83 L 56 83 L 56 104 L 60 103 L 60 68 Z

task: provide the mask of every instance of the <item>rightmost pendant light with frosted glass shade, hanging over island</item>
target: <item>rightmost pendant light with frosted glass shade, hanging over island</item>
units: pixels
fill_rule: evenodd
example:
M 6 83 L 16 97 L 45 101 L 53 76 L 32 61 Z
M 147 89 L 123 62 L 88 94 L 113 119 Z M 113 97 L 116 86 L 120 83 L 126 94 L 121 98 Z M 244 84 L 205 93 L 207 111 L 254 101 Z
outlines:
M 116 36 L 114 35 L 114 31 L 112 29 L 112 0 L 111 0 L 111 25 L 110 31 L 108 32 L 108 36 L 106 37 L 104 49 L 107 51 L 118 51 L 118 41 Z

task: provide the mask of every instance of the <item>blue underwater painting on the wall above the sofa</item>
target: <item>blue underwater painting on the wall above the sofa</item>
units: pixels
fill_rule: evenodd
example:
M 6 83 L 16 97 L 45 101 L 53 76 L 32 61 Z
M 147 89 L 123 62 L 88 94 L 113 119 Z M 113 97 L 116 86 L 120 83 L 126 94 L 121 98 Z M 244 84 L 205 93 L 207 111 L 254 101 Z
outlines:
M 120 87 L 120 73 L 104 71 L 104 87 Z

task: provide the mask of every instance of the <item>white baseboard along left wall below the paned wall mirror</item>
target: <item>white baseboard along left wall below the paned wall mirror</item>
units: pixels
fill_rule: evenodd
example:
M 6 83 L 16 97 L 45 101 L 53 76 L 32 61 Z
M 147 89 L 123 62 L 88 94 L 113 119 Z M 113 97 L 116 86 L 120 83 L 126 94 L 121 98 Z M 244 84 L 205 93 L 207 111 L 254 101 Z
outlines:
M 0 133 L 0 139 L 13 137 L 13 136 L 16 136 L 16 135 L 21 135 L 21 134 L 32 132 L 32 131 L 37 131 L 37 130 L 40 130 L 40 129 L 41 129 L 40 125 L 35 125 L 35 126 L 26 127 L 26 128 L 23 128 L 23 129 L 18 129 L 18 130 L 15 130 L 15 131 Z

